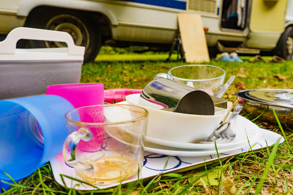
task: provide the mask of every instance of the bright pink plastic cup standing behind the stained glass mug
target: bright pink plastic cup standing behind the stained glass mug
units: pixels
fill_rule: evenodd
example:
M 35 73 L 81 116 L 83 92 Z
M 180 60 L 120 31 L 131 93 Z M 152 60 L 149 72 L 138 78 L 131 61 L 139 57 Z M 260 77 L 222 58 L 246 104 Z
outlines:
M 90 105 L 100 105 L 104 104 L 104 84 L 103 83 L 69 83 L 69 84 L 60 84 L 60 85 L 49 85 L 47 87 L 46 95 L 59 95 L 68 101 L 74 106 L 74 108 L 80 108 Z M 93 113 L 94 115 L 94 113 Z M 93 119 L 89 115 L 88 121 L 92 122 L 103 122 Z M 85 116 L 83 116 L 84 118 Z M 78 129 L 77 129 L 78 130 Z M 92 152 L 96 150 L 96 144 L 103 143 L 103 137 L 100 137 L 101 129 L 96 129 L 92 131 L 92 140 L 90 141 L 80 141 L 77 148 L 81 151 Z M 69 132 L 72 133 L 72 132 Z

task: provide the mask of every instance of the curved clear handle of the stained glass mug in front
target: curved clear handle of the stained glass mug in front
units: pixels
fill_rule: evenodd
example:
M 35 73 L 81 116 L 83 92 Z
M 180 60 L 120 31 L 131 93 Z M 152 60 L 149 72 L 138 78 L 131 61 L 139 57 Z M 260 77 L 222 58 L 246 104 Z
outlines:
M 85 163 L 78 161 L 76 157 L 76 146 L 80 140 L 89 141 L 92 139 L 92 133 L 85 128 L 80 128 L 78 131 L 74 131 L 69 136 L 67 136 L 64 144 L 62 155 L 67 163 L 72 167 L 78 167 L 84 169 L 84 171 L 94 172 L 95 165 L 92 164 L 90 160 L 85 161 Z

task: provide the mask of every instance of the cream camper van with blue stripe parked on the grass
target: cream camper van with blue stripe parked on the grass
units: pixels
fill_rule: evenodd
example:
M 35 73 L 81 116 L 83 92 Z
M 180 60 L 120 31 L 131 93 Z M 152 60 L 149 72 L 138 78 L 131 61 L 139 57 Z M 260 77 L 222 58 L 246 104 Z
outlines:
M 178 33 L 177 14 L 185 12 L 201 15 L 211 57 L 236 51 L 291 59 L 291 1 L 1 0 L 0 34 L 4 39 L 16 27 L 64 31 L 76 45 L 85 46 L 85 61 L 91 61 L 103 44 L 169 50 Z M 31 48 L 66 47 L 54 41 L 27 42 Z

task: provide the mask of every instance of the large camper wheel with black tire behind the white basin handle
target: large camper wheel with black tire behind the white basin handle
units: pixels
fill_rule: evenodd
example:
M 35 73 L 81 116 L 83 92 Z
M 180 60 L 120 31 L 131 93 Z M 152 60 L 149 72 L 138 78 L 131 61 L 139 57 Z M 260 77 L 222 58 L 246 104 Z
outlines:
M 36 8 L 27 17 L 25 26 L 69 33 L 75 45 L 85 47 L 84 62 L 94 61 L 101 47 L 99 28 L 86 12 Z M 67 47 L 66 43 L 57 41 L 30 40 L 29 45 L 31 48 Z

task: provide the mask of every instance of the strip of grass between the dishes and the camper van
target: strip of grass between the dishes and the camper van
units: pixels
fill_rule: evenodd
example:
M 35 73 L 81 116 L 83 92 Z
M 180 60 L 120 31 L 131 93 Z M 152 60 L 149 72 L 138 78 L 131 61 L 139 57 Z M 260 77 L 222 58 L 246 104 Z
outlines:
M 101 82 L 104 83 L 105 89 L 143 88 L 157 73 L 167 73 L 173 67 L 193 64 L 176 62 L 175 54 L 172 55 L 172 61 L 167 63 L 167 57 L 167 54 L 98 55 L 96 62 L 84 64 L 81 82 Z M 292 60 L 286 63 L 251 63 L 247 60 L 244 63 L 229 63 L 212 60 L 201 64 L 224 69 L 226 80 L 232 75 L 242 73 L 241 76 L 246 78 L 236 77 L 234 83 L 242 82 L 247 88 L 293 88 L 292 63 Z M 285 76 L 287 80 L 279 81 L 274 77 L 277 74 Z M 235 92 L 235 85 L 232 85 L 229 91 Z

